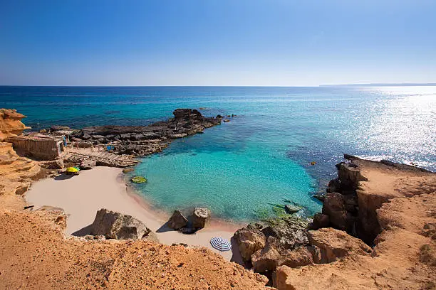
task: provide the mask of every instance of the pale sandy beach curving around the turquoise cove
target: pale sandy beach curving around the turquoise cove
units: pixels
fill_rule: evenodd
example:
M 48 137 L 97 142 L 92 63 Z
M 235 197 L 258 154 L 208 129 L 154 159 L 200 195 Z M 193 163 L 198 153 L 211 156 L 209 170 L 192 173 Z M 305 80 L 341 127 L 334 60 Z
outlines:
M 101 208 L 132 215 L 154 232 L 170 218 L 167 213 L 150 209 L 140 196 L 128 193 L 120 168 L 98 166 L 89 171 L 81 171 L 80 175 L 68 179 L 46 178 L 33 183 L 26 193 L 26 199 L 29 205 L 35 205 L 35 208 L 42 205 L 63 208 L 68 215 L 67 235 L 92 224 L 95 213 Z M 164 244 L 182 242 L 187 245 L 204 246 L 230 260 L 232 251 L 219 252 L 210 246 L 209 240 L 212 237 L 230 240 L 239 227 L 212 220 L 194 235 L 183 235 L 177 231 L 157 232 L 156 235 Z M 239 260 L 238 257 L 234 259 Z

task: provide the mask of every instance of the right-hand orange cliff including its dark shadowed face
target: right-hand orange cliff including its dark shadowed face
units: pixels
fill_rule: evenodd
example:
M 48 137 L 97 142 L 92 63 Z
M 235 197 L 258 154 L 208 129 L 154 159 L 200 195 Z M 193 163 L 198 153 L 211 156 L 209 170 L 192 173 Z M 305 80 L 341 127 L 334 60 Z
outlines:
M 280 290 L 435 289 L 436 174 L 388 161 L 346 158 L 325 197 L 324 226 L 348 230 L 373 248 L 340 245 L 335 240 L 343 238 L 324 235 L 331 228 L 311 231 L 318 232 L 325 245 L 321 256 L 324 252 L 325 262 L 331 263 L 278 267 L 274 285 Z M 334 245 L 339 247 L 334 250 Z

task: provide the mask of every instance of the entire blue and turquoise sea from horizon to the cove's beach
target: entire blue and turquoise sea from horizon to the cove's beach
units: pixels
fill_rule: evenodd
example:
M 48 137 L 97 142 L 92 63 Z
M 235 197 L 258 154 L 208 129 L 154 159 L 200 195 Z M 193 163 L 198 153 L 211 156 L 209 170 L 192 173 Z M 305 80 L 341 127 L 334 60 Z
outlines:
M 138 186 L 162 210 L 205 205 L 256 220 L 289 200 L 308 215 L 343 153 L 436 170 L 436 87 L 0 87 L 34 130 L 53 124 L 145 125 L 176 108 L 235 114 L 142 159 Z M 316 165 L 311 166 L 311 161 Z

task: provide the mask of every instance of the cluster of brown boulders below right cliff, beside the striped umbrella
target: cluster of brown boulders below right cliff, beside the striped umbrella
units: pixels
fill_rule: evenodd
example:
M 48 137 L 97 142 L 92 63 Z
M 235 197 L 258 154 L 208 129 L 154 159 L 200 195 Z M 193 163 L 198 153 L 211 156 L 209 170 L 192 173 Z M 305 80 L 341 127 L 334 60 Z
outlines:
M 234 237 L 242 257 L 245 261 L 251 261 L 254 272 L 271 276 L 271 273 L 282 265 L 294 268 L 309 264 L 331 263 L 350 255 L 369 255 L 371 252 L 371 248 L 362 240 L 333 228 L 306 229 L 304 235 L 307 241 L 303 245 L 294 245 L 291 248 L 287 248 L 288 245 L 282 243 L 279 237 L 269 235 L 274 230 L 271 226 L 260 229 L 260 225 L 258 227 L 249 225 L 235 233 Z M 268 234 L 266 242 L 260 235 L 261 232 Z M 241 237 L 244 237 L 243 241 Z M 255 243 L 255 241 L 260 242 Z M 259 249 L 253 252 L 254 245 Z

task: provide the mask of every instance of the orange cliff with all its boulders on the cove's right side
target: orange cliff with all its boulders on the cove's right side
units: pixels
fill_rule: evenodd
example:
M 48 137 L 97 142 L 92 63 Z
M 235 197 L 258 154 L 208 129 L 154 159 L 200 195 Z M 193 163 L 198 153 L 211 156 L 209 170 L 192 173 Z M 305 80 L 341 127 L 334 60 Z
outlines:
M 276 225 L 249 225 L 235 233 L 246 264 L 278 289 L 306 289 L 311 280 L 311 289 L 433 289 L 436 173 L 344 157 L 313 222 L 304 225 L 290 215 Z M 378 279 L 370 283 L 374 275 Z M 362 283 L 362 276 L 368 281 Z

